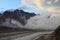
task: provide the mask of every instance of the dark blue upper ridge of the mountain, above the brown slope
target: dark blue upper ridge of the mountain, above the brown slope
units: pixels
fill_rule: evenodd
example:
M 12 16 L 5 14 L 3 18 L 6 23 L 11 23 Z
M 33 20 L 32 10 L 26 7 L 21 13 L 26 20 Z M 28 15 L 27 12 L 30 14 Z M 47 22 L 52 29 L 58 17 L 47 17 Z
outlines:
M 7 10 L 3 14 L 4 15 L 5 14 L 12 14 L 12 15 L 15 15 L 16 17 L 22 17 L 26 20 L 29 19 L 30 17 L 33 17 L 36 15 L 35 13 L 29 13 L 29 12 L 25 12 L 23 10 L 18 10 L 18 9 L 14 10 L 14 11 Z

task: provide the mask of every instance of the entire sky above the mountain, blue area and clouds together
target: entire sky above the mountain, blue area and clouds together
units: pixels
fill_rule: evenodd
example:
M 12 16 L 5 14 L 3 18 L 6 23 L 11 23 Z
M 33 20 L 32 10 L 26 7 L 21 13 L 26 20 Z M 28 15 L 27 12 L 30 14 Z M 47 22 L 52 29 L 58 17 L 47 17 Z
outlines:
M 23 9 L 28 12 L 60 13 L 60 0 L 0 0 L 0 11 Z

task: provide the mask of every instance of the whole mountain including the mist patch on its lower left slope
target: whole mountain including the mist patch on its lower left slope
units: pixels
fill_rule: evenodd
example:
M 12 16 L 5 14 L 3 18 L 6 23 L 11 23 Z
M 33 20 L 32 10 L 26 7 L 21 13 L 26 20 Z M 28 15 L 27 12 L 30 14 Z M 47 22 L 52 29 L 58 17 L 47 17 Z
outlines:
M 0 16 L 0 25 L 4 26 L 21 26 L 26 24 L 26 20 L 28 20 L 30 17 L 35 16 L 35 13 L 28 13 L 23 10 L 6 10 L 3 12 L 2 16 Z

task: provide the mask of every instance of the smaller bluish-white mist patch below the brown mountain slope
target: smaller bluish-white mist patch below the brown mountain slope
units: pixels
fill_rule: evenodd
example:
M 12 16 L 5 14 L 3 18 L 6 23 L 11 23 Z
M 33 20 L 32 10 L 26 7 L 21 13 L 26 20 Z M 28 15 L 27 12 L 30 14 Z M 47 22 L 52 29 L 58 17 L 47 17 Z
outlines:
M 10 18 L 6 19 L 5 22 L 1 23 L 0 25 L 12 28 L 23 28 L 23 25 L 19 21 L 14 19 L 11 19 L 11 22 L 9 21 Z

